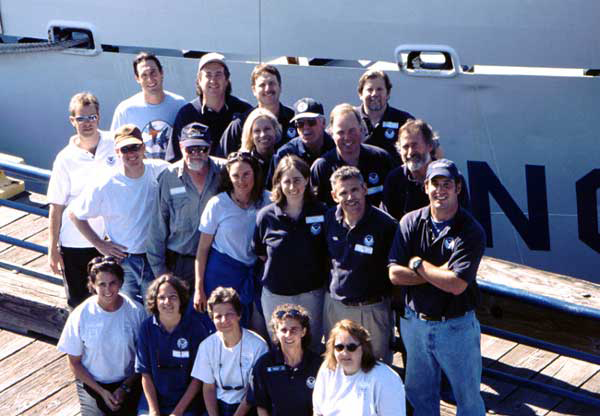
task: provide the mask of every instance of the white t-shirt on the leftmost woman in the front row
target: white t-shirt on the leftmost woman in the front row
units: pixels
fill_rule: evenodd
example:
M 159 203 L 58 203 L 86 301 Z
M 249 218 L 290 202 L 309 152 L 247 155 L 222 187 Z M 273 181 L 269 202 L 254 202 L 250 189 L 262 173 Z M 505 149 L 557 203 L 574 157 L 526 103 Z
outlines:
M 57 348 L 81 357 L 94 380 L 114 383 L 134 372 L 135 351 L 142 321 L 142 305 L 120 294 L 123 304 L 114 312 L 98 305 L 98 296 L 86 299 L 69 315 Z

